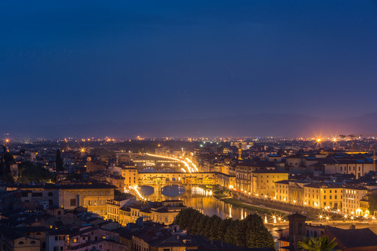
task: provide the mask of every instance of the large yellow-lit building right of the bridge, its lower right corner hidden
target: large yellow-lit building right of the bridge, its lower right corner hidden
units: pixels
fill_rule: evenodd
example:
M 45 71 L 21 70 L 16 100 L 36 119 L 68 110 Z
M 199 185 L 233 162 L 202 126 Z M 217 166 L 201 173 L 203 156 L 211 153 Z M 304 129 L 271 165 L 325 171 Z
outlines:
M 276 169 L 259 169 L 252 172 L 252 193 L 258 196 L 275 197 L 275 182 L 288 180 L 288 172 Z

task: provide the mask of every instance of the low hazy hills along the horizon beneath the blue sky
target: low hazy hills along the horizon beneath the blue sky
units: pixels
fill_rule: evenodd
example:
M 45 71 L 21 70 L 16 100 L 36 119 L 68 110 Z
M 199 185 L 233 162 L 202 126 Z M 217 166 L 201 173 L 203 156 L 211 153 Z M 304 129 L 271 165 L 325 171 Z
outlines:
M 12 137 L 301 137 L 377 134 L 377 112 L 348 119 L 320 119 L 300 114 L 254 114 L 214 119 L 67 125 L 0 125 Z

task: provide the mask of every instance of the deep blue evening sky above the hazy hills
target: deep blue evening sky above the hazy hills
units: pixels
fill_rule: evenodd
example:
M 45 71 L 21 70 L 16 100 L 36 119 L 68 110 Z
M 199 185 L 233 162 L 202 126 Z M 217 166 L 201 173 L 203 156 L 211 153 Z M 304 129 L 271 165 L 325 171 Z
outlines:
M 0 0 L 0 123 L 377 112 L 377 1 Z

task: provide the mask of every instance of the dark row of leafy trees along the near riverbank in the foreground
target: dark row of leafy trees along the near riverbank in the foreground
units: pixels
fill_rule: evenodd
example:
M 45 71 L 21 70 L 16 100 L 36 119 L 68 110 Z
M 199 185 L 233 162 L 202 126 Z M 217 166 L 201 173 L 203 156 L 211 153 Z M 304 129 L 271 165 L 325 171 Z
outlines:
M 217 215 L 203 215 L 193 208 L 178 213 L 175 223 L 191 234 L 200 234 L 209 240 L 219 240 L 244 248 L 275 248 L 274 238 L 262 218 L 250 214 L 244 220 L 221 219 Z

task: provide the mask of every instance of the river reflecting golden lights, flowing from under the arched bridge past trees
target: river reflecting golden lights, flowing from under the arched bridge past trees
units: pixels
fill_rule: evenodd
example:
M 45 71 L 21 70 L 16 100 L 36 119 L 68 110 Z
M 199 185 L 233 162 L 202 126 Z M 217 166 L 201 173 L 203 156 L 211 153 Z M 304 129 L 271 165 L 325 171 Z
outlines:
M 250 211 L 245 208 L 239 208 L 237 206 L 232 206 L 219 199 L 208 195 L 205 190 L 201 188 L 193 187 L 191 190 L 185 190 L 182 186 L 170 185 L 162 188 L 161 191 L 154 191 L 153 188 L 148 186 L 141 186 L 140 192 L 148 197 L 151 201 L 163 201 L 167 199 L 180 199 L 184 201 L 184 205 L 192 207 L 204 213 L 205 215 L 218 215 L 221 218 L 235 218 L 242 220 L 246 215 L 250 213 L 256 213 L 255 211 Z M 260 215 L 263 220 L 265 215 Z M 270 219 L 269 215 L 267 218 Z M 276 227 L 267 227 L 274 238 L 278 238 L 277 232 L 275 230 L 279 229 Z

